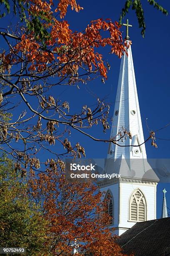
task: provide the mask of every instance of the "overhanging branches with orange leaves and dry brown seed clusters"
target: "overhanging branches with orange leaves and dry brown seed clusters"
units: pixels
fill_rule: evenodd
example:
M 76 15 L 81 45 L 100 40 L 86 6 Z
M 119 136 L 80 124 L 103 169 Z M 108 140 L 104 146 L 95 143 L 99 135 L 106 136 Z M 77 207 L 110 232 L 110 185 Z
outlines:
M 167 14 L 155 1 L 148 2 Z M 65 15 L 69 6 L 76 12 L 82 10 L 76 0 L 2 0 L 0 4 L 2 19 L 10 12 L 20 17 L 15 31 L 9 26 L 0 29 L 5 44 L 0 54 L 0 150 L 13 156 L 15 167 L 23 173 L 28 166 L 40 168 L 36 154 L 41 149 L 48 150 L 50 158 L 55 159 L 67 154 L 85 156 L 84 148 L 78 142 L 73 144 L 68 135 L 75 130 L 102 141 L 93 137 L 89 128 L 97 124 L 104 132 L 109 128 L 109 106 L 98 99 L 93 109 L 84 105 L 72 113 L 69 102 L 58 98 L 55 88 L 81 86 L 95 77 L 105 82 L 110 65 L 97 50 L 110 46 L 112 54 L 126 54 L 120 24 L 100 18 L 85 31 L 72 31 Z M 120 21 L 131 7 L 145 31 L 140 0 L 125 2 Z M 12 114 L 11 118 L 4 120 L 7 113 Z M 119 144 L 128 131 L 120 134 L 117 140 L 115 134 L 107 141 Z M 149 134 L 150 138 L 154 141 L 154 135 Z M 54 144 L 65 149 L 52 151 L 50 145 Z

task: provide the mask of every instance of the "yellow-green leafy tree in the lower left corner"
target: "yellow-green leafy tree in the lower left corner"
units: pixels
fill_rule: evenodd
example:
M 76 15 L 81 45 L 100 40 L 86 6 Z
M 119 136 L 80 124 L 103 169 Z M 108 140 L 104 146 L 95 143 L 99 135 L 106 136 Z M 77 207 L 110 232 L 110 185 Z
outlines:
M 27 255 L 42 255 L 46 251 L 46 228 L 40 205 L 28 197 L 26 180 L 15 172 L 12 160 L 1 156 L 0 245 L 26 247 Z

